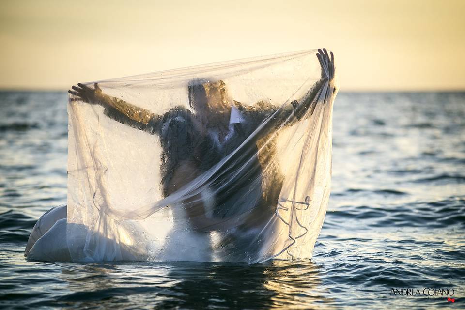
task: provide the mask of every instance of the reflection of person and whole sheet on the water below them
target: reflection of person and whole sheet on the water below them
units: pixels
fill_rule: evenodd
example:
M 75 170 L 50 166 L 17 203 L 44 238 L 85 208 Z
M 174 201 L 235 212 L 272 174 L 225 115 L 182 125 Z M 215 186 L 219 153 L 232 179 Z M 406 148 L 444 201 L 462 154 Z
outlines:
M 60 280 L 71 295 L 67 305 L 156 309 L 338 309 L 325 294 L 321 266 L 310 260 L 272 261 L 254 265 L 217 263 L 76 264 L 61 268 Z M 124 272 L 123 272 L 124 270 Z M 77 277 L 76 275 L 79 275 Z M 147 280 L 151 278 L 155 280 Z M 245 280 L 247 279 L 247 280 Z M 143 285 L 131 285 L 144 281 Z M 124 287 L 124 290 L 120 290 Z M 285 287 L 286 289 L 283 289 Z M 69 292 L 69 293 L 68 293 Z M 76 294 L 95 292 L 86 303 Z M 80 295 L 79 295 L 80 296 Z M 65 299 L 67 300 L 67 299 Z M 156 302 L 155 302 L 156 301 Z M 52 301 L 51 301 L 52 302 Z M 56 305 L 56 302 L 52 302 Z

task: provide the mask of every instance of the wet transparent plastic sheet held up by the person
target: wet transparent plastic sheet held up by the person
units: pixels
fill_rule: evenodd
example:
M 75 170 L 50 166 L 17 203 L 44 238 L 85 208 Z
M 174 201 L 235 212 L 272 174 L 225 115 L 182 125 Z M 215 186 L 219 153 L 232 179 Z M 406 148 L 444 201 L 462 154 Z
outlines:
M 310 258 L 335 81 L 310 50 L 73 86 L 72 260 Z

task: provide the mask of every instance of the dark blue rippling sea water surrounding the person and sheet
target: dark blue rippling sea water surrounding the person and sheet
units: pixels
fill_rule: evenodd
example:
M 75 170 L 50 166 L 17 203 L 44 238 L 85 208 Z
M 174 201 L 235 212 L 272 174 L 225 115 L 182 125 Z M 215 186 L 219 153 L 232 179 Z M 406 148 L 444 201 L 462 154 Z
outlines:
M 0 93 L 0 308 L 465 307 L 465 93 L 339 94 L 311 261 L 26 261 L 35 221 L 66 202 L 66 154 L 64 92 Z

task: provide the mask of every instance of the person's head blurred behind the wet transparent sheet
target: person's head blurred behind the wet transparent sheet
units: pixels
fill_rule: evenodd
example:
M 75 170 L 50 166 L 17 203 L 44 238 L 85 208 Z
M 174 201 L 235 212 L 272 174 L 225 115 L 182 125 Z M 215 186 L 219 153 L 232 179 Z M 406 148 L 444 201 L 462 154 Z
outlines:
M 188 91 L 189 105 L 204 124 L 216 126 L 229 121 L 231 105 L 222 80 L 193 80 Z

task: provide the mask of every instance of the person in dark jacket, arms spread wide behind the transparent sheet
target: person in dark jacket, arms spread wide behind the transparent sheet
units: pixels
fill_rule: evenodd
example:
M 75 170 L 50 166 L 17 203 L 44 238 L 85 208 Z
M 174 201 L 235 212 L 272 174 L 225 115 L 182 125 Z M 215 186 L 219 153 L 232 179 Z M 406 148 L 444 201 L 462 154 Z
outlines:
M 318 58 L 322 72 L 324 66 L 331 68 L 333 59 L 326 51 L 320 51 Z M 79 83 L 69 93 L 76 96 L 74 100 L 102 105 L 110 118 L 160 137 L 164 196 L 209 171 L 255 132 L 242 146 L 244 150 L 217 171 L 217 177 L 208 181 L 209 186 L 203 187 L 201 194 L 183 201 L 194 231 L 202 234 L 219 227 L 222 231 L 230 229 L 230 252 L 242 247 L 244 254 L 256 250 L 253 232 L 260 232 L 273 216 L 279 199 L 283 177 L 274 138 L 282 126 L 311 115 L 315 107 L 312 103 L 326 78 L 322 76 L 300 101 L 282 108 L 263 101 L 250 107 L 236 101 L 231 104 L 221 80 L 191 81 L 188 95 L 192 111 L 178 106 L 163 115 L 111 97 L 97 83 L 93 88 Z M 256 131 L 263 122 L 263 128 Z M 242 224 L 227 226 L 229 218 L 245 213 L 248 215 Z

